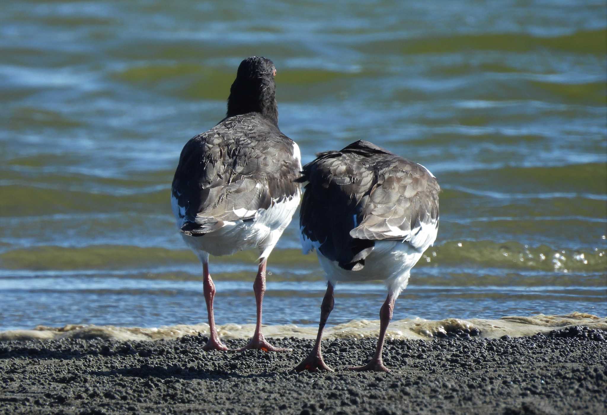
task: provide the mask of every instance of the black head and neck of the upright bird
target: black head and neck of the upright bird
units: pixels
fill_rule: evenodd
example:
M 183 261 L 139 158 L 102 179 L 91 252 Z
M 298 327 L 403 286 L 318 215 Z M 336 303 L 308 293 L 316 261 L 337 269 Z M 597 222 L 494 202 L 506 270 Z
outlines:
M 274 62 L 252 56 L 240 62 L 229 92 L 228 116 L 259 112 L 278 125 Z

